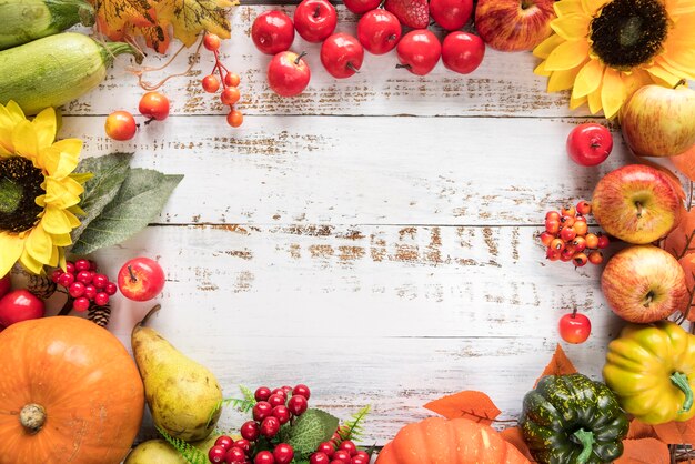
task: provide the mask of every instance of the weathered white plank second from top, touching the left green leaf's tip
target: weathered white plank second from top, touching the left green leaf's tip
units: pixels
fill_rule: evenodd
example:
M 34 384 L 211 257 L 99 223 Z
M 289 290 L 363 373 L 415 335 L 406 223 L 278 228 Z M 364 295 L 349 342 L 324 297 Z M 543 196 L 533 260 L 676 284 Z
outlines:
M 565 153 L 576 120 L 492 118 L 171 118 L 132 142 L 103 118 L 66 118 L 85 155 L 134 151 L 134 165 L 184 173 L 160 222 L 528 224 L 629 160 L 598 168 Z

